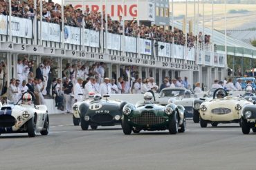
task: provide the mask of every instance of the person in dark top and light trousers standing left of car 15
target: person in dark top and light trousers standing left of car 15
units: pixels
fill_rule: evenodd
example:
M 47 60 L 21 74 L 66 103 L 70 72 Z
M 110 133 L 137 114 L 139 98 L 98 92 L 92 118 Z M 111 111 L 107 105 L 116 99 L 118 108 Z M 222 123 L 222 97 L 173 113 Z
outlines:
M 73 92 L 73 84 L 66 78 L 63 83 L 63 92 L 64 92 L 64 110 L 69 113 L 72 110 L 72 98 L 71 94 Z

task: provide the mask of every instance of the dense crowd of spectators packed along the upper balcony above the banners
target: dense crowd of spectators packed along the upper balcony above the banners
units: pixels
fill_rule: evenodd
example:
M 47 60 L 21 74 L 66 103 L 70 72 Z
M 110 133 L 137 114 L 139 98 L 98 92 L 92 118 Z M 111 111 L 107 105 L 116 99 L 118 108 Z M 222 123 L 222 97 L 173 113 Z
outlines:
M 8 14 L 8 1 L 0 0 L 0 13 Z M 12 0 L 12 15 L 16 17 L 24 17 L 27 19 L 34 19 L 35 17 L 39 20 L 40 8 L 39 1 L 37 1 L 37 8 L 34 8 L 34 0 Z M 105 21 L 105 14 L 100 12 L 91 11 L 90 8 L 86 8 L 83 12 L 80 9 L 73 8 L 72 5 L 64 6 L 64 24 L 73 25 L 76 27 L 82 26 L 82 20 L 84 18 L 85 28 L 91 30 L 101 30 L 102 22 Z M 49 0 L 48 2 L 43 1 L 43 21 L 52 23 L 62 23 L 62 9 L 60 4 L 54 3 Z M 132 21 L 123 21 L 122 16 L 119 17 L 118 21 L 113 21 L 111 17 L 107 16 L 108 28 L 107 30 L 114 34 L 122 34 L 123 25 L 125 25 L 125 34 L 128 36 L 140 36 L 145 39 L 156 39 L 158 41 L 163 41 L 167 43 L 173 43 L 179 45 L 185 45 L 185 34 L 182 30 L 174 28 L 174 32 L 170 30 L 165 30 L 158 25 L 138 25 L 137 21 L 134 19 Z M 104 30 L 105 24 L 103 27 Z M 210 35 L 206 35 L 203 40 L 202 32 L 199 33 L 199 43 L 210 43 Z M 188 47 L 193 47 L 197 40 L 197 36 L 192 33 L 187 34 Z

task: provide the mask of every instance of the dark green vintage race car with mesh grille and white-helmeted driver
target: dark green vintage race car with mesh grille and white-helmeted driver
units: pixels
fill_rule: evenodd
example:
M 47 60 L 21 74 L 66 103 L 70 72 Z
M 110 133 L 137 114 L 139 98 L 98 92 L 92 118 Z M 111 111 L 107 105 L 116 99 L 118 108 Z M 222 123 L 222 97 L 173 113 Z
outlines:
M 144 94 L 144 103 L 128 103 L 122 109 L 122 130 L 126 135 L 139 133 L 141 130 L 156 131 L 168 129 L 170 134 L 185 131 L 185 108 L 170 103 L 166 106 L 155 103 L 154 93 Z

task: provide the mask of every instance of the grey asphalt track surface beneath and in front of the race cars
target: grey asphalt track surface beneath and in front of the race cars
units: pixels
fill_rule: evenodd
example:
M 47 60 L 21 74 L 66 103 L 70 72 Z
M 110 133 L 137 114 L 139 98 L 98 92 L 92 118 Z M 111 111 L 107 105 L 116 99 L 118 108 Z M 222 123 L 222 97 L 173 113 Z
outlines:
M 120 126 L 82 131 L 72 115 L 51 115 L 51 133 L 1 134 L 0 169 L 256 169 L 256 134 L 238 124 L 208 126 L 188 120 L 187 131 L 142 131 Z

